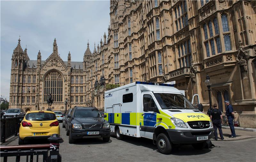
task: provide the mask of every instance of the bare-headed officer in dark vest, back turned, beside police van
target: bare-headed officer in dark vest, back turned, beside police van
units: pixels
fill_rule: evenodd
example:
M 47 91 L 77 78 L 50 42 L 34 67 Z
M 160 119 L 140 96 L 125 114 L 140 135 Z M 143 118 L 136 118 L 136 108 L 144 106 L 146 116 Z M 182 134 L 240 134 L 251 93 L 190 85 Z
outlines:
M 222 129 L 221 129 L 221 123 L 222 123 L 222 115 L 221 111 L 217 108 L 217 104 L 213 104 L 213 110 L 210 112 L 210 119 L 212 120 L 212 125 L 214 128 L 214 136 L 215 140 L 218 140 L 218 133 L 217 128 L 220 132 L 220 139 L 224 140 Z

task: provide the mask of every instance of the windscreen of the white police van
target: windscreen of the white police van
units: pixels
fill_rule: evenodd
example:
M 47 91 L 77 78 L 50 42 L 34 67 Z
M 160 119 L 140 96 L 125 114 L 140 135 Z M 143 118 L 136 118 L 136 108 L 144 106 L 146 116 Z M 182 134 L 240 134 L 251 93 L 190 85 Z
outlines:
M 162 109 L 196 109 L 188 99 L 179 94 L 154 93 Z

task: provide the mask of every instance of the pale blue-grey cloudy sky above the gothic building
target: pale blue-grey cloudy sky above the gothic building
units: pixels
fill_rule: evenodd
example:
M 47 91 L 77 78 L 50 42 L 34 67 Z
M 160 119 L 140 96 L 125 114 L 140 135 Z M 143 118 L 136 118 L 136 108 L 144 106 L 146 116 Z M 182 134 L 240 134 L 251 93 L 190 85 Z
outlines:
M 0 1 L 1 5 L 1 55 L 0 94 L 9 101 L 11 59 L 18 44 L 27 45 L 30 60 L 42 60 L 52 54 L 54 38 L 63 61 L 68 52 L 71 61 L 82 61 L 89 40 L 100 44 L 104 32 L 108 33 L 109 1 Z

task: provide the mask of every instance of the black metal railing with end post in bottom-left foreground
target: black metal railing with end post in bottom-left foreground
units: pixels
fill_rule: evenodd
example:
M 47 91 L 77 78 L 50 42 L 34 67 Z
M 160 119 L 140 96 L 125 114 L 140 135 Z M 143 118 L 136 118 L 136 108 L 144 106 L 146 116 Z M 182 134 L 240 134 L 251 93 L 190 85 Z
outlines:
M 50 141 L 50 144 L 1 146 L 0 156 L 4 157 L 4 162 L 7 162 L 8 157 L 16 157 L 15 161 L 20 162 L 21 156 L 26 156 L 26 161 L 30 162 L 33 162 L 34 156 L 36 156 L 36 161 L 38 162 L 39 158 L 41 161 L 40 155 L 43 156 L 43 162 L 61 162 L 59 143 L 63 142 L 62 138 L 57 134 L 53 134 L 48 138 L 48 141 Z M 14 159 L 10 160 L 14 161 Z

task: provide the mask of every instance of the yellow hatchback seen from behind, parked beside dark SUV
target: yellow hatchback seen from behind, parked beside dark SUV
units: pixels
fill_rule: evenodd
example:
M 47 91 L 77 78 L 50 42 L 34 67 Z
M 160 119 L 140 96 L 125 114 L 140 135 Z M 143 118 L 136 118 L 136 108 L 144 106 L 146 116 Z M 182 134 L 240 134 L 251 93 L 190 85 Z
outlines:
M 59 122 L 54 112 L 27 112 L 20 123 L 19 144 L 24 144 L 25 140 L 48 138 L 52 134 L 60 135 Z

